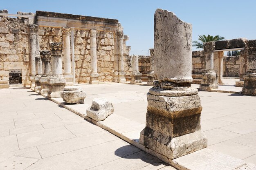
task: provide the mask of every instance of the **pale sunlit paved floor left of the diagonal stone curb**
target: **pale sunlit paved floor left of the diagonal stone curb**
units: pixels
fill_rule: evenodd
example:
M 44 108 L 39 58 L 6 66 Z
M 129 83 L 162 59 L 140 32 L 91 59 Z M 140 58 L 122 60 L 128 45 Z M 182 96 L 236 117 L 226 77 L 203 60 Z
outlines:
M 30 89 L 9 88 L 0 89 L 0 170 L 13 169 L 175 170 Z

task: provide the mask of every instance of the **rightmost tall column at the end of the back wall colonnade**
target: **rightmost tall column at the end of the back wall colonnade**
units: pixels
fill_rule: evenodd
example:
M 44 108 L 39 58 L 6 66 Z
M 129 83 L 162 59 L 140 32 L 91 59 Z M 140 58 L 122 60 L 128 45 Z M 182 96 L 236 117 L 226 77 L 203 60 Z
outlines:
M 117 47 L 117 53 L 115 53 L 115 61 L 118 57 L 118 76 L 117 76 L 117 83 L 120 82 L 126 82 L 125 75 L 126 73 L 124 72 L 124 51 L 123 51 L 123 31 L 116 31 L 115 32 L 115 50 Z M 114 51 L 115 52 L 115 51 Z M 116 64 L 116 62 L 115 62 Z M 115 73 L 114 73 L 115 77 Z M 114 78 L 115 79 L 115 78 Z

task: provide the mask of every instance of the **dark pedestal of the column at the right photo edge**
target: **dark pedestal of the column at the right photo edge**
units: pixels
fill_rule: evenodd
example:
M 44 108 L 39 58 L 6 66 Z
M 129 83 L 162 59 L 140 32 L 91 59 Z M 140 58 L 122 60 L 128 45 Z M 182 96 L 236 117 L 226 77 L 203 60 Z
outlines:
M 243 77 L 244 87 L 242 88 L 243 95 L 256 95 L 256 73 L 246 73 Z

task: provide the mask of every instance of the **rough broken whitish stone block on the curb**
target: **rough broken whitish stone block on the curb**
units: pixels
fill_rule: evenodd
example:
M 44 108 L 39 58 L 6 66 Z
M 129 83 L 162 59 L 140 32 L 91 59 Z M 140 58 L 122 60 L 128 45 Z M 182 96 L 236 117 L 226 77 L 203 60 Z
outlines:
M 87 116 L 96 120 L 105 120 L 109 115 L 114 112 L 112 102 L 104 99 L 103 97 L 94 98 L 92 106 L 86 110 Z

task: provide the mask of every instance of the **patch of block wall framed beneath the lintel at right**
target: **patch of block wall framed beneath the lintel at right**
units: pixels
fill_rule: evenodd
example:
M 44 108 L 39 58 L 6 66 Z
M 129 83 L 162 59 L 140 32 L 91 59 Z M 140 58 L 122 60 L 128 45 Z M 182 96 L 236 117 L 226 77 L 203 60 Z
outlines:
M 223 57 L 223 77 L 239 77 L 240 56 Z

